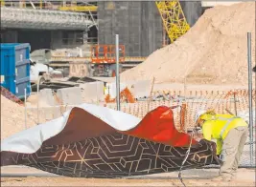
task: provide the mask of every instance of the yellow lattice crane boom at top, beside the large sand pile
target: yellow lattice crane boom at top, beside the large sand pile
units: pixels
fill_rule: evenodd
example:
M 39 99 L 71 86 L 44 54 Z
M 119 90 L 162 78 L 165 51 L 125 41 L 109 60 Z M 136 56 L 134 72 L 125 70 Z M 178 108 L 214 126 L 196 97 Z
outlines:
M 156 1 L 155 4 L 171 43 L 190 30 L 179 1 Z

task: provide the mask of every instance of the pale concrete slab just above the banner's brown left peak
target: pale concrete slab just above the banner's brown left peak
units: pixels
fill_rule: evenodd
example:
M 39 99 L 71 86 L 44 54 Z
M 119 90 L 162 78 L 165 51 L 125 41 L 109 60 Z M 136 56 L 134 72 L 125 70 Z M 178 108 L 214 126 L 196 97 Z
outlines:
M 58 89 L 57 96 L 61 105 L 80 105 L 82 103 L 81 88 L 79 87 Z

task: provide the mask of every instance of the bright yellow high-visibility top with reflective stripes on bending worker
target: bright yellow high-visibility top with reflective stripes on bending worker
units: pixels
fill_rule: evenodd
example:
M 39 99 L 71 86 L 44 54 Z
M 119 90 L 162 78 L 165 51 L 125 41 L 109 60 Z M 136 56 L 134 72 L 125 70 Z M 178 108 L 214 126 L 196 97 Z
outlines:
M 231 114 L 217 114 L 216 119 L 203 123 L 202 133 L 207 140 L 217 139 L 217 155 L 221 155 L 223 139 L 231 129 L 241 126 L 248 126 L 243 118 Z

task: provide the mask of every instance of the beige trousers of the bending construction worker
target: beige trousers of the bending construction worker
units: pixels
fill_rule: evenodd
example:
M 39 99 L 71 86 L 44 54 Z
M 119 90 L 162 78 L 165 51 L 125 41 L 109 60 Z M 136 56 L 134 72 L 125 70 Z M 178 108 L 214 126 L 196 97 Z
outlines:
M 231 129 L 222 144 L 221 176 L 235 177 L 248 136 L 248 127 Z

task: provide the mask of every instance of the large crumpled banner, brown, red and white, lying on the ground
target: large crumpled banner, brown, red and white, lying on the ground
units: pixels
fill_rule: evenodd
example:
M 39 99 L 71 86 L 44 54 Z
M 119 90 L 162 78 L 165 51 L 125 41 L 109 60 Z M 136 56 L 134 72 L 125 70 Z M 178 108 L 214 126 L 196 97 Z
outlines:
M 175 129 L 172 109 L 143 119 L 83 104 L 1 143 L 1 166 L 26 165 L 67 177 L 131 177 L 178 171 L 190 135 Z M 216 144 L 192 141 L 183 169 L 220 164 Z

